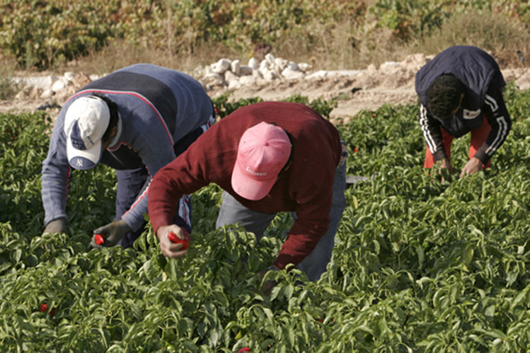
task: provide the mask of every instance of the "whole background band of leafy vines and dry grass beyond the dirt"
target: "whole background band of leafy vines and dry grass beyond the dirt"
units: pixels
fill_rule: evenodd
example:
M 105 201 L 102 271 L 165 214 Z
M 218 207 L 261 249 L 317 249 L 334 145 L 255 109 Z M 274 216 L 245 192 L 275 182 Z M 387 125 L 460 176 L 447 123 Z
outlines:
M 530 43 L 522 0 L 2 0 L 0 10 L 6 62 L 98 74 L 140 61 L 191 71 L 267 52 L 356 69 L 454 44 L 517 66 Z

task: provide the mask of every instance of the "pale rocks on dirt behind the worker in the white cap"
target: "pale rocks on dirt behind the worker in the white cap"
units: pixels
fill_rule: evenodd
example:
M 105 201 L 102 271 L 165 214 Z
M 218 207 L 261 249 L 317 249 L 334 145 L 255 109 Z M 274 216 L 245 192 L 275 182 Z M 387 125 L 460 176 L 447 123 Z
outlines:
M 66 72 L 63 76 L 30 76 L 14 78 L 19 83 L 21 91 L 15 96 L 16 100 L 65 100 L 78 89 L 99 78 L 98 75 L 87 75 L 84 72 L 74 74 Z

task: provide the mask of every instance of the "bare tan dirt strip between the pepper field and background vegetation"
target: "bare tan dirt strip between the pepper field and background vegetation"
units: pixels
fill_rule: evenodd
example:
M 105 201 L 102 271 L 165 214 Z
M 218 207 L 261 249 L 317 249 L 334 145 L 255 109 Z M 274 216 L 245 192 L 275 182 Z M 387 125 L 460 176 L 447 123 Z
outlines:
M 320 72 L 311 79 L 298 81 L 275 80 L 259 81 L 252 86 L 242 86 L 232 91 L 231 99 L 259 96 L 264 100 L 281 100 L 294 94 L 308 96 L 309 100 L 337 98 L 338 106 L 331 112 L 332 120 L 341 118 L 348 122 L 352 116 L 363 109 L 377 109 L 385 103 L 403 105 L 416 102 L 414 92 L 414 75 L 425 63 L 425 56 L 418 60 L 409 58 L 401 63 L 388 63 L 377 68 L 370 65 L 367 69 L 352 72 Z M 528 68 L 504 69 L 502 74 L 506 81 L 515 81 L 520 89 L 530 87 Z M 212 98 L 228 92 L 224 87 L 209 90 Z M 55 102 L 63 105 L 67 96 L 56 98 Z M 4 100 L 0 101 L 0 113 L 6 111 L 34 111 L 36 108 L 52 103 L 50 100 Z M 50 111 L 56 114 L 58 109 Z

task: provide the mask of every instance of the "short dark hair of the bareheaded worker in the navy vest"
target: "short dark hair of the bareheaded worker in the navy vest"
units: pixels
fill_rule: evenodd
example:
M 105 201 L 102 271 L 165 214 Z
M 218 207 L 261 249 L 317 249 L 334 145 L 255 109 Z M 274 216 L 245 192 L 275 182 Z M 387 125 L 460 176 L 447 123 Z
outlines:
M 460 98 L 463 93 L 464 87 L 458 78 L 452 75 L 438 76 L 427 89 L 429 111 L 436 118 L 449 118 L 451 113 L 460 105 Z

